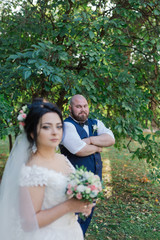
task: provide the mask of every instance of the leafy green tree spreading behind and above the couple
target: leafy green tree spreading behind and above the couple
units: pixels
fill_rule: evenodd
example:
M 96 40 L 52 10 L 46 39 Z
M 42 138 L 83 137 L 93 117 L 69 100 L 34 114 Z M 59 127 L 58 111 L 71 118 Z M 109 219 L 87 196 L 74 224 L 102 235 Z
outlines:
M 64 115 L 68 98 L 82 93 L 93 115 L 98 109 L 97 117 L 113 129 L 117 146 L 126 136 L 142 144 L 136 152 L 141 158 L 150 144 L 143 128 L 159 127 L 160 7 L 156 0 L 108 5 L 22 0 L 3 6 L 0 88 L 17 111 L 43 96 Z M 151 154 L 145 155 L 148 161 Z

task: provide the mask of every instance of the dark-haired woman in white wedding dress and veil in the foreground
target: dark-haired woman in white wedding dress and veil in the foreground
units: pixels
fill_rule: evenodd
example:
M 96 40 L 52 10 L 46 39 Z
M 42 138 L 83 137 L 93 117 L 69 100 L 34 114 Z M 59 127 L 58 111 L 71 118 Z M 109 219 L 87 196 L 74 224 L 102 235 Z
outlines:
M 83 239 L 75 213 L 87 216 L 93 204 L 66 196 L 67 179 L 75 169 L 56 152 L 62 134 L 63 119 L 55 105 L 29 107 L 1 182 L 1 239 Z

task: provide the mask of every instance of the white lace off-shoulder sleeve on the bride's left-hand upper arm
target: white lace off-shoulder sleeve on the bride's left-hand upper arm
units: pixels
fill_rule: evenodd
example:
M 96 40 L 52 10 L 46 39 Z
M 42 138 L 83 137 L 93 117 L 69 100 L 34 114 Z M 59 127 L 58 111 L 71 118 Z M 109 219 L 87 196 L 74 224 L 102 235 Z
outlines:
M 20 173 L 19 184 L 21 187 L 33 187 L 47 185 L 46 169 L 38 166 L 23 166 Z

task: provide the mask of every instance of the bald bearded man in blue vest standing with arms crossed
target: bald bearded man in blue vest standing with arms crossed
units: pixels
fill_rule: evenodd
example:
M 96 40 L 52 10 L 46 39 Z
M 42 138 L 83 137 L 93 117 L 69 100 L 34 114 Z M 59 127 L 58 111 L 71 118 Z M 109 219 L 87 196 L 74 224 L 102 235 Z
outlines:
M 111 130 L 97 119 L 90 119 L 88 102 L 82 95 L 74 95 L 69 105 L 70 116 L 64 121 L 61 153 L 76 167 L 85 166 L 102 179 L 100 152 L 115 143 Z M 93 211 L 92 211 L 93 214 Z M 86 220 L 78 219 L 83 234 L 87 231 L 92 214 Z

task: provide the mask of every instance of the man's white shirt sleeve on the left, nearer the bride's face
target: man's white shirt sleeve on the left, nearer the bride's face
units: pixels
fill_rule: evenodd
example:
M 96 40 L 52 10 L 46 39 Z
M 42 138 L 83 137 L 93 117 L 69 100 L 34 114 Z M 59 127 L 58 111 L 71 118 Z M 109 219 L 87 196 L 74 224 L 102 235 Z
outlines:
M 80 138 L 75 126 L 70 122 L 64 122 L 64 131 L 61 144 L 72 154 L 79 152 L 86 143 Z

